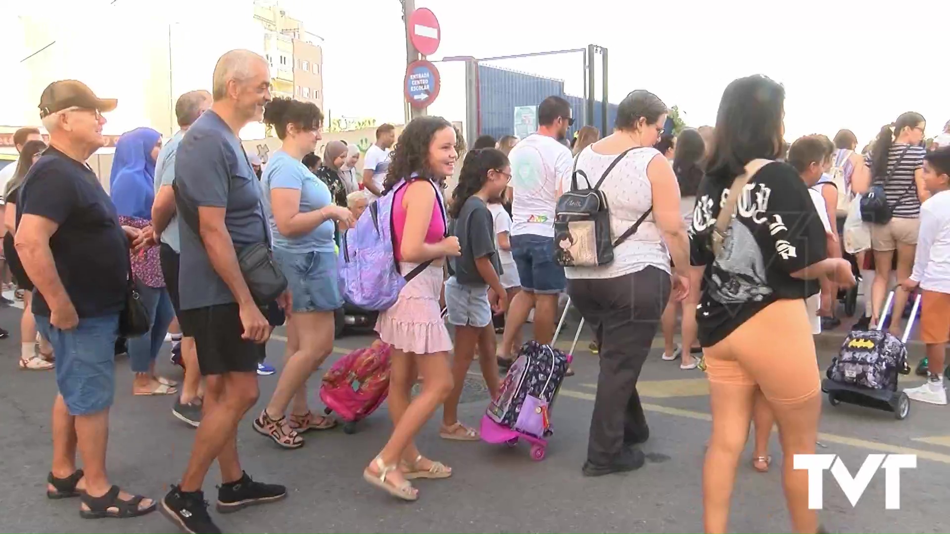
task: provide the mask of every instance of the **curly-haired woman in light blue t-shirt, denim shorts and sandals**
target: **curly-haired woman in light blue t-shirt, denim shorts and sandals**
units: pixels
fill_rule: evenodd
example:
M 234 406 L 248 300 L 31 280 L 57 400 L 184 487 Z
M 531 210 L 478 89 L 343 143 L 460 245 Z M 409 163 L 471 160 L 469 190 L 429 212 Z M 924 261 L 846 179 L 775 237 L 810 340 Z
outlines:
M 336 422 L 307 406 L 307 379 L 333 351 L 333 311 L 343 305 L 337 284 L 334 221 L 352 225 L 350 210 L 333 203 L 327 185 L 302 162 L 320 140 L 323 114 L 313 103 L 277 98 L 264 111 L 283 145 L 261 177 L 264 210 L 274 235 L 274 258 L 290 284 L 287 364 L 254 428 L 283 448 L 300 448 L 300 433 Z M 285 417 L 287 407 L 290 417 Z

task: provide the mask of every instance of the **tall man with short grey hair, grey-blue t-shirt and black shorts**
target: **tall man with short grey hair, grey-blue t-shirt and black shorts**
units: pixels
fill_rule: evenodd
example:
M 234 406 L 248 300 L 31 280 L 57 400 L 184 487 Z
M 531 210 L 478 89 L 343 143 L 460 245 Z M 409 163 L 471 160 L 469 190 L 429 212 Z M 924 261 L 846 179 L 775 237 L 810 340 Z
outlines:
M 257 364 L 271 325 L 241 273 L 236 251 L 269 244 L 257 175 L 238 132 L 261 121 L 271 100 L 267 62 L 249 50 L 218 59 L 211 108 L 181 139 L 174 190 L 180 217 L 179 321 L 194 337 L 204 377 L 204 410 L 180 486 L 161 510 L 185 532 L 217 534 L 201 487 L 218 460 L 217 509 L 237 511 L 287 496 L 284 486 L 251 479 L 237 458 L 237 425 L 257 402 Z M 288 294 L 280 303 L 289 308 Z

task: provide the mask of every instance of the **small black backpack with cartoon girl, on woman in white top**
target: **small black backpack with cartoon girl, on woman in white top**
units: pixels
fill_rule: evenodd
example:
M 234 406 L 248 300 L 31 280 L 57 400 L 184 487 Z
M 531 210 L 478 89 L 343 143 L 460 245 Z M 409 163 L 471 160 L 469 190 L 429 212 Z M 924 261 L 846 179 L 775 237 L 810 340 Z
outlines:
M 578 170 L 580 154 L 574 159 L 571 190 L 565 191 L 558 199 L 554 214 L 554 260 L 561 267 L 597 267 L 614 261 L 614 249 L 633 236 L 653 212 L 651 207 L 620 237 L 611 240 L 610 210 L 607 197 L 600 191 L 600 184 L 627 154 L 637 148 L 643 147 L 635 146 L 621 152 L 594 187 L 591 187 L 584 171 Z M 578 176 L 587 182 L 585 189 L 578 186 Z

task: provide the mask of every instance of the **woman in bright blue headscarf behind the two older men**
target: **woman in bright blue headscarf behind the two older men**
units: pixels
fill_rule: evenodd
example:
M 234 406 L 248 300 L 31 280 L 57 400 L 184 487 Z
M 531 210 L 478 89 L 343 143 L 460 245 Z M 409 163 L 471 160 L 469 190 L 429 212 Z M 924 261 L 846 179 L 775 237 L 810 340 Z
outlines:
M 155 161 L 161 150 L 161 134 L 151 128 L 125 132 L 116 143 L 109 178 L 112 203 L 123 225 L 152 234 L 152 201 L 155 200 Z M 132 274 L 139 296 L 148 309 L 152 328 L 148 334 L 128 340 L 128 356 L 136 395 L 176 393 L 175 382 L 156 376 L 155 358 L 175 316 L 161 277 L 159 247 L 153 245 L 132 253 Z

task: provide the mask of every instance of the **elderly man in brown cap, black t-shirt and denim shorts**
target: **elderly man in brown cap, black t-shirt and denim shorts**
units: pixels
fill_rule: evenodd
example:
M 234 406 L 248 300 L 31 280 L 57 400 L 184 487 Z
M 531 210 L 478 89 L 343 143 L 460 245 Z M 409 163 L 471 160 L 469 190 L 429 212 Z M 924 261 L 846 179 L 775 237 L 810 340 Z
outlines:
M 112 200 L 85 161 L 104 145 L 103 112 L 115 109 L 80 82 L 47 86 L 40 117 L 49 148 L 29 170 L 17 204 L 16 250 L 36 286 L 36 327 L 56 353 L 53 461 L 47 497 L 80 497 L 86 519 L 134 517 L 155 502 L 112 486 L 105 474 L 113 348 L 125 306 L 130 244 Z M 83 469 L 76 468 L 76 450 Z

